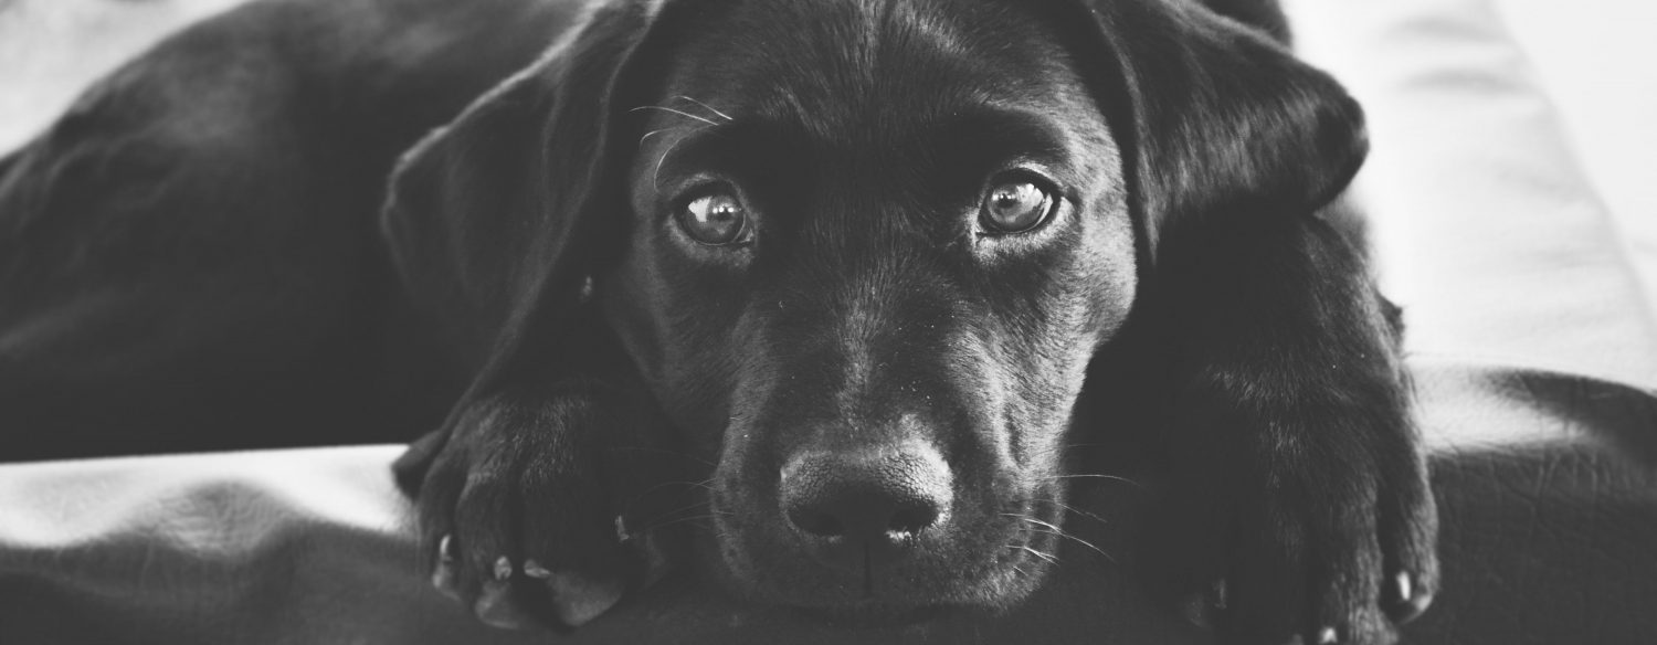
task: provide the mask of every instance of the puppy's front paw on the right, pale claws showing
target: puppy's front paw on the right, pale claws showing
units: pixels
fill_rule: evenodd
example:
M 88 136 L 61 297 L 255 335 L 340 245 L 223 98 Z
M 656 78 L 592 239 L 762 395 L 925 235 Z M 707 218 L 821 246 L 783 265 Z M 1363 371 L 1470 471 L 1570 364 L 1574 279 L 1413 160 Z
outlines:
M 1437 509 L 1412 434 L 1281 429 L 1186 483 L 1205 499 L 1181 496 L 1183 555 L 1165 554 L 1201 569 L 1175 575 L 1181 594 L 1206 590 L 1195 615 L 1223 643 L 1397 642 L 1438 590 Z

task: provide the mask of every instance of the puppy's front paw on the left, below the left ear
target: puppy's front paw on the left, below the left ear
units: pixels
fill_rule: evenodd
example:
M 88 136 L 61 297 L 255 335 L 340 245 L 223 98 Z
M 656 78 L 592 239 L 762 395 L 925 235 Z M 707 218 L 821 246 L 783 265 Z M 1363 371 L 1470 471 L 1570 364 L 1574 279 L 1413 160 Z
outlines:
M 651 456 L 671 453 L 618 441 L 651 431 L 636 410 L 568 386 L 457 415 L 396 464 L 437 590 L 489 625 L 572 628 L 664 574 L 668 537 L 635 527 L 678 504 Z

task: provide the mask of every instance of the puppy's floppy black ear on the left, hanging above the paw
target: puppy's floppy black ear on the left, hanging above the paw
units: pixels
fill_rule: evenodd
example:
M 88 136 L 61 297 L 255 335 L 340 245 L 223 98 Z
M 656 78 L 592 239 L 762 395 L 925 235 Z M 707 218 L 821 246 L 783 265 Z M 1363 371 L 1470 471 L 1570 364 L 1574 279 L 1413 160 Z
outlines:
M 618 161 L 620 80 L 659 2 L 611 2 L 535 65 L 416 144 L 391 176 L 381 229 L 416 305 L 472 366 L 522 353 L 567 318 L 603 257 Z M 545 333 L 543 333 L 545 332 Z

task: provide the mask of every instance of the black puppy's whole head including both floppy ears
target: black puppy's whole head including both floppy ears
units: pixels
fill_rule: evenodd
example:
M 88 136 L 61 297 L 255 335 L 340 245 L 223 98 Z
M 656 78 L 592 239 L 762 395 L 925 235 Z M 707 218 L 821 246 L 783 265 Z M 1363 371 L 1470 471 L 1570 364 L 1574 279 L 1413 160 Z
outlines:
M 481 378 L 601 308 L 716 458 L 737 590 L 1006 607 L 1180 230 L 1306 217 L 1362 154 L 1339 86 L 1200 7 L 620 2 L 411 153 L 386 226 Z

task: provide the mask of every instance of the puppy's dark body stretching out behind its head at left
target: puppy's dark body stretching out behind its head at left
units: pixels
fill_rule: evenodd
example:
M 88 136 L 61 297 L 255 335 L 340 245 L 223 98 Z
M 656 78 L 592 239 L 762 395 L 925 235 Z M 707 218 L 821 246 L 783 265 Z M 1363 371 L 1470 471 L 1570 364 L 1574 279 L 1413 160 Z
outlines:
M 376 242 L 384 176 L 578 15 L 252 3 L 93 86 L 0 166 L 0 428 L 38 438 L 3 458 L 441 421 L 464 366 L 409 328 Z

